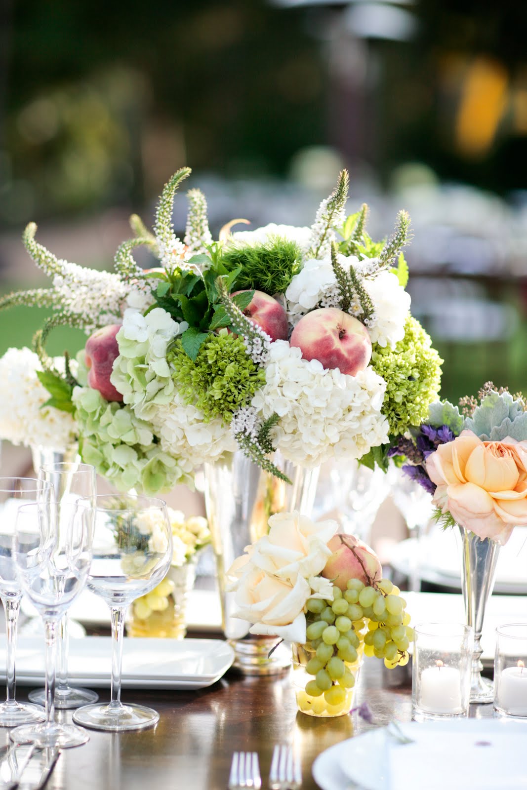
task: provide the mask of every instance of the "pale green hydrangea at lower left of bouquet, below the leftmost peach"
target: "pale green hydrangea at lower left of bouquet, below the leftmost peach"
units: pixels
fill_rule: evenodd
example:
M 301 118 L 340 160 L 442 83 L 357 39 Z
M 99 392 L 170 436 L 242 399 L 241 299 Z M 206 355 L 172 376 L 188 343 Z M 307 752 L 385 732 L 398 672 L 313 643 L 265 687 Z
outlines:
M 75 387 L 72 400 L 83 461 L 119 491 L 135 488 L 155 495 L 175 483 L 192 483 L 191 469 L 160 450 L 150 424 L 138 419 L 130 406 L 108 403 L 90 387 Z

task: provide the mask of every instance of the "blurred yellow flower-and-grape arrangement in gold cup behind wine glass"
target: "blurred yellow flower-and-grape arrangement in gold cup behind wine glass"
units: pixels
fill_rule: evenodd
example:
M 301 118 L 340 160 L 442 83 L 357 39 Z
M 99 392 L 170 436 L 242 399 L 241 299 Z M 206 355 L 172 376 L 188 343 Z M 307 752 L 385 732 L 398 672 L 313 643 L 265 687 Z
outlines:
M 186 600 L 194 586 L 196 563 L 201 549 L 210 543 L 206 518 L 186 518 L 181 510 L 168 507 L 172 529 L 171 570 L 148 595 L 134 600 L 126 630 L 133 637 L 171 637 L 186 634 Z

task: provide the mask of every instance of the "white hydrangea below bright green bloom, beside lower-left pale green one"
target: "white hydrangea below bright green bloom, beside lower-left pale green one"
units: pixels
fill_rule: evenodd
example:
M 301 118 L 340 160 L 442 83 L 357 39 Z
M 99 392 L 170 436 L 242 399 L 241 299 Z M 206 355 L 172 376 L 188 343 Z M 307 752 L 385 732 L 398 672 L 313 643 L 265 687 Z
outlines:
M 204 422 L 203 412 L 186 404 L 179 393 L 168 404 L 156 405 L 150 416 L 161 450 L 177 455 L 190 467 L 218 461 L 237 449 L 228 425 L 221 419 Z

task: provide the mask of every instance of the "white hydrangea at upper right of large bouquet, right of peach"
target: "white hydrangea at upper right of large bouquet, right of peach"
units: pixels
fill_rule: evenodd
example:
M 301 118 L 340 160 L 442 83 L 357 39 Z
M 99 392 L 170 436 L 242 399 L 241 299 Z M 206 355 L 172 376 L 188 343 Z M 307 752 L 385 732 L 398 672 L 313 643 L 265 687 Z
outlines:
M 405 337 L 410 295 L 399 284 L 397 276 L 387 269 L 365 280 L 364 285 L 375 305 L 375 322 L 368 326 L 371 342 L 394 348 Z

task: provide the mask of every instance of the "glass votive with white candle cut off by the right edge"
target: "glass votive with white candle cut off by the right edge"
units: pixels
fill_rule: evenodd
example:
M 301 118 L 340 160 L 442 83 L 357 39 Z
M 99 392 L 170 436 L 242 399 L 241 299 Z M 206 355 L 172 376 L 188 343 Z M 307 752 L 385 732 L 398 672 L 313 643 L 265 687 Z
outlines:
M 527 623 L 498 626 L 496 637 L 494 707 L 527 718 Z

